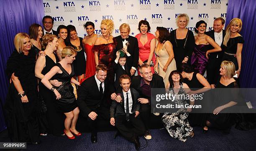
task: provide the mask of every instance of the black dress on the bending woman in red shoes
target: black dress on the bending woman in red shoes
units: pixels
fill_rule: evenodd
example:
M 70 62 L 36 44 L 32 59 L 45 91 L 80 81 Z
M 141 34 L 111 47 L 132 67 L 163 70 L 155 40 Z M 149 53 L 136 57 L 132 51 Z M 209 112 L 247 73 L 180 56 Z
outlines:
M 56 100 L 56 107 L 58 110 L 62 113 L 68 113 L 70 111 L 73 111 L 77 107 L 76 98 L 74 96 L 74 88 L 70 83 L 71 78 L 74 76 L 74 68 L 72 66 L 72 71 L 69 74 L 60 63 L 56 63 L 56 66 L 58 66 L 62 73 L 56 73 L 53 76 L 53 79 L 56 79 L 60 82 L 62 82 L 61 86 L 56 87 L 54 86 L 57 91 L 59 91 L 61 98 L 59 100 Z

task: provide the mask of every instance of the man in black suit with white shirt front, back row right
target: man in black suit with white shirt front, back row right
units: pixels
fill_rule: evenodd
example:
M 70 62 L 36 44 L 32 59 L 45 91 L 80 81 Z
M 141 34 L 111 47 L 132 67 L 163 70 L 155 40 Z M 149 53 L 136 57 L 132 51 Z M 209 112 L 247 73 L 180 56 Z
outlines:
M 223 30 L 225 20 L 221 17 L 216 18 L 213 22 L 213 30 L 206 32 L 221 48 L 220 52 L 210 53 L 208 65 L 207 65 L 207 81 L 210 84 L 215 84 L 218 81 L 220 73 L 220 64 L 223 57 L 225 46 L 223 45 L 223 39 L 225 37 L 225 30 Z

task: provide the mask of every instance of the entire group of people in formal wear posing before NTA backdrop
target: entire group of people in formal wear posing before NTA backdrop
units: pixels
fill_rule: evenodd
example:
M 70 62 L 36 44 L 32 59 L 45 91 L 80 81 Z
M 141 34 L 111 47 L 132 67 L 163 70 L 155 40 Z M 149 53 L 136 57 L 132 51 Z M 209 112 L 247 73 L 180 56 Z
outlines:
M 97 121 L 103 119 L 117 128 L 116 136 L 133 142 L 136 149 L 138 136 L 152 138 L 152 116 L 161 118 L 170 136 L 183 142 L 195 135 L 192 126 L 228 133 L 232 118 L 221 111 L 235 106 L 235 97 L 218 100 L 210 114 L 189 113 L 191 108 L 151 113 L 151 88 L 199 94 L 239 86 L 241 19 L 233 18 L 224 30 L 225 20 L 216 18 L 208 32 L 207 23 L 200 20 L 195 34 L 186 28 L 188 22 L 187 14 L 179 14 L 177 29 L 169 33 L 164 27 L 151 29 L 148 21 L 141 20 L 135 37 L 123 23 L 120 35 L 113 37 L 113 20 L 101 21 L 101 35 L 88 21 L 87 36 L 81 38 L 73 25 L 53 30 L 54 20 L 47 15 L 42 19 L 44 28 L 34 23 L 29 35 L 15 35 L 15 50 L 6 69 L 10 88 L 5 111 L 11 141 L 38 144 L 39 136 L 48 133 L 75 139 L 82 135 L 76 129 L 79 115 L 87 119 L 92 143 L 97 142 Z M 175 99 L 179 105 L 185 102 Z M 190 101 L 194 103 L 198 102 Z

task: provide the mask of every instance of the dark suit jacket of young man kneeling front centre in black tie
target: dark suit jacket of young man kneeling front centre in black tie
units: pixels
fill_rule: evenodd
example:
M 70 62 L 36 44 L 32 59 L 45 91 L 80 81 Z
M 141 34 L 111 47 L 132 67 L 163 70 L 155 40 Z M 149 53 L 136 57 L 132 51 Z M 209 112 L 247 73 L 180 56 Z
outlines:
M 131 88 L 131 96 L 133 99 L 133 106 L 132 106 L 132 113 L 135 113 L 135 111 L 139 111 L 140 109 L 140 103 L 138 103 L 139 93 L 134 88 Z M 123 91 L 121 94 L 122 99 L 124 100 Z M 118 103 L 117 101 L 113 100 L 112 104 L 110 106 L 110 118 L 114 118 L 118 115 L 125 115 L 125 109 L 124 101 Z

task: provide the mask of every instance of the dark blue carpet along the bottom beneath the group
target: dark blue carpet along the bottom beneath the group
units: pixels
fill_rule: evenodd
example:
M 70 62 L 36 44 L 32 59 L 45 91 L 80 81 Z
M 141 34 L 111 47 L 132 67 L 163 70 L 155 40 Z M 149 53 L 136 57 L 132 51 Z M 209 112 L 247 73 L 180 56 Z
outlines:
M 195 136 L 181 142 L 169 136 L 165 129 L 151 130 L 152 139 L 141 137 L 142 151 L 177 151 L 177 150 L 218 150 L 238 151 L 256 150 L 256 129 L 240 131 L 231 128 L 230 134 L 223 135 L 221 131 L 210 129 L 203 133 L 200 127 L 194 127 Z M 135 151 L 133 143 L 118 136 L 113 139 L 115 131 L 98 132 L 98 142 L 92 144 L 90 133 L 82 133 L 75 140 L 69 140 L 66 136 L 41 137 L 39 145 L 27 145 L 27 151 Z

